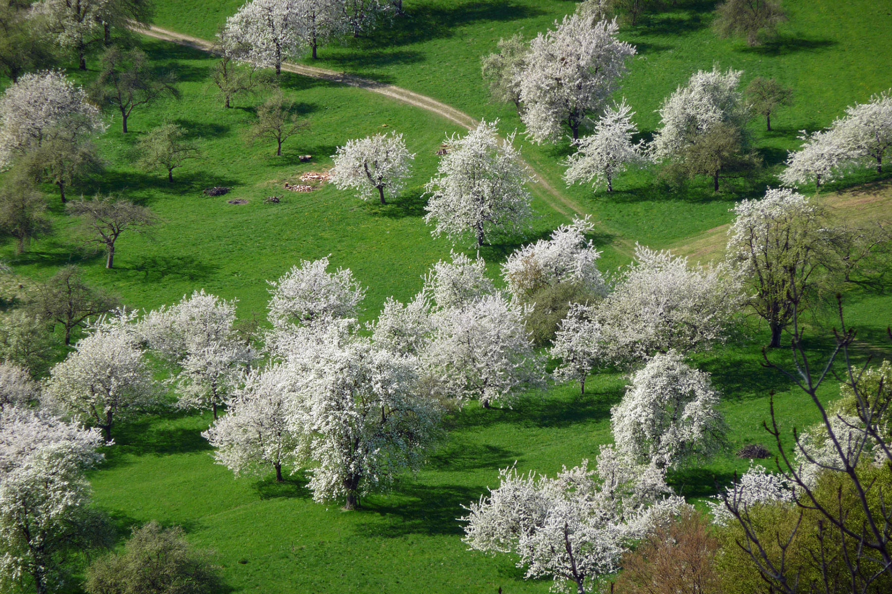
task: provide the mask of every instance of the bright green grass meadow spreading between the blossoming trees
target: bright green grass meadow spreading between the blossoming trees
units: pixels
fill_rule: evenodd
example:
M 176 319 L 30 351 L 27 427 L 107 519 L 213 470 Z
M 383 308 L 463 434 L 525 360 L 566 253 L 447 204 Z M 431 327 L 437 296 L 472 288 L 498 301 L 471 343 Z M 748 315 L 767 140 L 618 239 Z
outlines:
M 159 26 L 211 38 L 241 2 L 158 4 Z M 479 76 L 480 55 L 492 51 L 499 37 L 521 28 L 533 35 L 574 8 L 567 0 L 404 4 L 408 19 L 368 39 L 321 49 L 319 65 L 430 94 L 475 118 L 500 118 L 504 131 L 520 124 L 513 110 L 488 102 Z M 797 145 L 797 130 L 826 126 L 847 104 L 892 85 L 892 11 L 880 10 L 875 3 L 785 2 L 789 22 L 780 38 L 755 49 L 714 37 L 708 27 L 713 3 L 678 4 L 622 33 L 639 48 L 623 93 L 638 112 L 643 134 L 657 126 L 654 110 L 662 98 L 691 72 L 711 68 L 714 62 L 744 69 L 745 82 L 756 76 L 778 77 L 795 89 L 796 104 L 780 112 L 771 134 L 762 131 L 758 120 L 752 123 L 769 167 L 756 182 L 730 185 L 734 191 L 713 194 L 705 183 L 668 191 L 647 171 L 624 176 L 612 195 L 594 196 L 578 187 L 566 190 L 599 221 L 593 239 L 605 250 L 604 268 L 626 263 L 636 240 L 697 256 L 720 254 L 720 228 L 731 220 L 729 208 L 736 199 L 757 195 L 772 183 L 772 172 Z M 137 110 L 129 134 L 120 134 L 120 121 L 113 119 L 101 140 L 109 173 L 78 191 L 126 195 L 152 207 L 163 223 L 151 238 L 120 240 L 117 267 L 108 271 L 101 255 L 79 248 L 72 224 L 53 198 L 54 234 L 34 242 L 23 256 L 14 255 L 12 242 L 0 248 L 0 257 L 16 273 L 39 280 L 75 262 L 85 267 L 90 281 L 117 291 L 132 307 L 155 307 L 204 288 L 237 297 L 239 314 L 249 316 L 265 313 L 265 281 L 302 258 L 331 254 L 333 264 L 350 267 L 368 286 L 363 314 L 368 320 L 385 297 L 411 297 L 427 267 L 449 256 L 450 244 L 432 239 L 421 220 L 422 186 L 437 164 L 434 151 L 443 134 L 458 131 L 449 121 L 359 89 L 283 74 L 286 93 L 310 119 L 312 130 L 288 141 L 279 158 L 268 143 L 244 143 L 244 128 L 259 100 L 237 99 L 235 109 L 224 110 L 209 80 L 211 57 L 147 38 L 143 45 L 160 69 L 177 72 L 183 99 Z M 90 65 L 95 67 L 95 61 Z M 88 72 L 81 79 L 93 76 L 95 72 Z M 202 159 L 175 171 L 173 184 L 161 173 L 147 174 L 133 166 L 136 139 L 165 119 L 185 126 L 202 146 Z M 417 153 L 409 187 L 392 205 L 365 203 L 334 187 L 310 194 L 282 190 L 285 181 L 328 167 L 328 156 L 338 144 L 381 130 L 405 134 L 410 151 Z M 564 190 L 558 161 L 567 154 L 566 143 L 537 147 L 524 142 L 523 151 L 541 175 Z M 306 153 L 314 155 L 313 162 L 300 164 L 297 156 Z M 203 188 L 215 184 L 234 191 L 220 198 L 201 195 Z M 53 196 L 51 188 L 46 191 Z M 860 213 L 857 216 L 888 217 L 892 212 L 892 186 L 869 172 L 826 192 L 823 199 L 831 206 Z M 284 195 L 282 203 L 264 204 L 272 194 Z M 234 198 L 249 203 L 227 204 Z M 534 206 L 539 217 L 531 239 L 566 222 L 541 200 Z M 493 278 L 515 247 L 498 244 L 481 250 Z M 892 287 L 883 283 L 847 291 L 848 321 L 861 330 L 865 342 L 859 356 L 892 356 L 884 339 L 892 321 L 890 294 Z M 821 337 L 834 321 L 822 310 L 809 322 L 817 356 L 828 346 Z M 771 445 L 760 427 L 771 390 L 785 429 L 815 420 L 804 396 L 777 372 L 761 366 L 763 341 L 762 330 L 747 329 L 729 346 L 697 359 L 723 392 L 735 447 Z M 776 356 L 783 360 L 787 355 Z M 97 505 L 109 511 L 122 533 L 130 525 L 157 519 L 183 525 L 191 541 L 215 549 L 234 592 L 545 592 L 550 582 L 525 582 L 510 559 L 467 552 L 456 518 L 463 514 L 462 504 L 477 499 L 487 485 L 495 486 L 498 468 L 516 461 L 523 470 L 554 473 L 564 464 L 594 458 L 599 444 L 610 440 L 609 411 L 624 384 L 618 375 L 603 374 L 590 380 L 583 397 L 569 386 L 529 395 L 513 411 L 483 411 L 472 404 L 450 417 L 449 439 L 422 472 L 403 477 L 390 494 L 363 501 L 363 509 L 356 512 L 313 503 L 300 474 L 285 484 L 268 478 L 234 479 L 226 468 L 213 464 L 199 435 L 211 420 L 208 415 L 169 414 L 122 426 L 118 444 L 109 449 L 107 463 L 91 474 L 91 481 Z M 823 395 L 835 396 L 836 388 L 828 385 Z M 671 479 L 691 500 L 702 500 L 714 492 L 715 481 L 726 483 L 735 470 L 746 467 L 746 460 L 729 453 Z

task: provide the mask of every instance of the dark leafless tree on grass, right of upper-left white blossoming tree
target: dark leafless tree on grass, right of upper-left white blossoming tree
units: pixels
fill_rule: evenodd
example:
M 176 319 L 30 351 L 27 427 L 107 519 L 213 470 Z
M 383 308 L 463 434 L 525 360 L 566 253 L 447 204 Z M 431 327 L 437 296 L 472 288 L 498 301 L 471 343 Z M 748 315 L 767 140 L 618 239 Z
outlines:
M 179 91 L 173 85 L 177 77 L 173 72 L 156 75 L 142 50 L 125 52 L 112 45 L 103 53 L 100 64 L 93 92 L 100 102 L 120 111 L 124 134 L 127 134 L 127 120 L 136 107 L 152 103 L 164 95 L 179 97 Z

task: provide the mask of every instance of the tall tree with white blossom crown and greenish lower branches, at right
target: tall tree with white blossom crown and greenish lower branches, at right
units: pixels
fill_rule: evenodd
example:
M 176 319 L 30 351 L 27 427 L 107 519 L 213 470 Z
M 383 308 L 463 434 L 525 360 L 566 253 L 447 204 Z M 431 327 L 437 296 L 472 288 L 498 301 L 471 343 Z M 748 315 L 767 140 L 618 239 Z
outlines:
M 769 346 L 807 304 L 822 252 L 829 248 L 822 209 L 792 190 L 769 190 L 743 200 L 728 230 L 728 256 L 740 266 L 749 305 L 768 323 Z

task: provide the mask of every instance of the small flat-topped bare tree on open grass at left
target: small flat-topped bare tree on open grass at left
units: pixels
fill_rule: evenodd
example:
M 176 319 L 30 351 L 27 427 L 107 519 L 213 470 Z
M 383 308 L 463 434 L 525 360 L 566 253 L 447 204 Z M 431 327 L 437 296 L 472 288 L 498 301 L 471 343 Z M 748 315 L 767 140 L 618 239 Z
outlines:
M 68 209 L 71 215 L 80 217 L 84 227 L 93 236 L 87 243 L 103 246 L 108 252 L 106 268 L 114 266 L 114 244 L 121 233 L 146 232 L 158 220 L 149 208 L 130 200 L 116 200 L 111 196 L 96 196 L 92 200 L 81 198 L 70 203 Z

